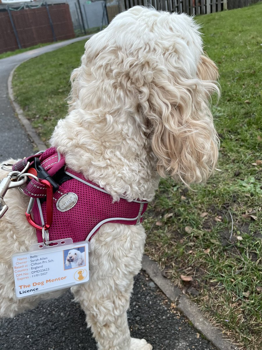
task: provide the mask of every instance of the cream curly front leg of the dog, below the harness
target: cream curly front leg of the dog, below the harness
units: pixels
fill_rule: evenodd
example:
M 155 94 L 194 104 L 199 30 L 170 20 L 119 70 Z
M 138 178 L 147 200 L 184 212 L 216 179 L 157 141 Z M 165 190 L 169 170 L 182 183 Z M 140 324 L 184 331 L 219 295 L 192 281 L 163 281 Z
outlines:
M 86 313 L 99 350 L 152 349 L 145 339 L 130 337 L 126 316 L 144 243 L 140 225 L 107 224 L 91 240 L 90 281 L 72 292 Z

